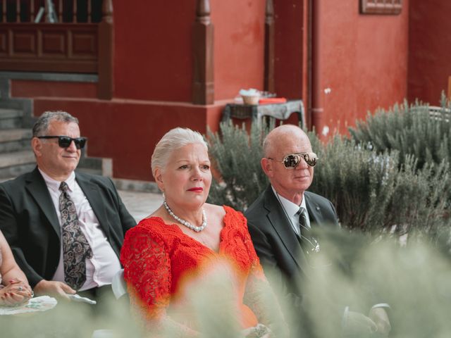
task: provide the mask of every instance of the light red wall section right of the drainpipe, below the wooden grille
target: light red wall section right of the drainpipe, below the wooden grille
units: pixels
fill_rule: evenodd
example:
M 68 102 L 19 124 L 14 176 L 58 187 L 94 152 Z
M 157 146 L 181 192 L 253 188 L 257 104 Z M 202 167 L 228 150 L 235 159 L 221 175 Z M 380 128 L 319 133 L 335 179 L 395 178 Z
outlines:
M 346 132 L 367 111 L 388 108 L 407 96 L 409 1 L 402 1 L 400 15 L 361 15 L 358 3 L 316 2 L 313 95 L 320 133 L 327 128 L 329 134 Z

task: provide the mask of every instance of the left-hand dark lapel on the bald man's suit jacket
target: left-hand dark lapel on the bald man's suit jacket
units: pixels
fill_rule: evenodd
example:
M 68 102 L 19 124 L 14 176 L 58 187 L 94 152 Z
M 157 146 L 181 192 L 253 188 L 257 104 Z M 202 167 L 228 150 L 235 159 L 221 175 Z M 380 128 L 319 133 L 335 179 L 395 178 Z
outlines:
M 290 220 L 285 215 L 283 207 L 280 205 L 271 185 L 266 189 L 264 206 L 268 210 L 268 219 L 282 240 L 288 255 L 296 262 L 299 269 L 307 273 L 305 270 L 308 269 L 309 265 L 304 256 L 304 251 L 302 251 L 296 234 L 292 230 Z

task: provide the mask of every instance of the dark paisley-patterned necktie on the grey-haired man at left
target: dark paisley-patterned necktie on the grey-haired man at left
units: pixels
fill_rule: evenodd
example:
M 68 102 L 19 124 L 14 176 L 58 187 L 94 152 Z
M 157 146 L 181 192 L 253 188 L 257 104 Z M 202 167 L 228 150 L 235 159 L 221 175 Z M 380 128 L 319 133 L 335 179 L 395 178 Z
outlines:
M 92 258 L 92 249 L 80 229 L 77 210 L 68 194 L 68 184 L 59 186 L 59 210 L 63 224 L 64 280 L 73 289 L 80 289 L 86 281 L 86 258 Z

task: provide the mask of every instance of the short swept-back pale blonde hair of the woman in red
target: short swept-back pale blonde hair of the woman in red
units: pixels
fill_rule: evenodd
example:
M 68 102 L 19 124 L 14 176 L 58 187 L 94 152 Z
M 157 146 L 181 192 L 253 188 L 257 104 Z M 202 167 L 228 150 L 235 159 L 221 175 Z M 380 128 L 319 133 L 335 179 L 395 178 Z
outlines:
M 164 170 L 168 163 L 168 158 L 173 151 L 186 146 L 187 144 L 202 144 L 208 149 L 204 137 L 199 132 L 194 132 L 188 128 L 174 128 L 166 132 L 156 144 L 154 154 L 152 154 L 152 175 L 155 177 L 155 169 Z

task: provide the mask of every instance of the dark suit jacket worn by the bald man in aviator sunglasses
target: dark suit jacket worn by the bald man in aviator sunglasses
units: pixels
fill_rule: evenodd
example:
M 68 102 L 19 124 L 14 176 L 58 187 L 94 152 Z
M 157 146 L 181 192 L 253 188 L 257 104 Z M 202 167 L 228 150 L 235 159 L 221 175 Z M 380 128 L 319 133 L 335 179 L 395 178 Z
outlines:
M 312 228 L 338 227 L 337 213 L 328 199 L 312 192 L 304 192 L 304 198 Z M 245 216 L 261 265 L 279 279 L 273 284 L 281 282 L 285 286 L 284 292 L 302 297 L 299 285 L 302 279 L 309 278 L 310 268 L 271 185 L 247 208 Z

